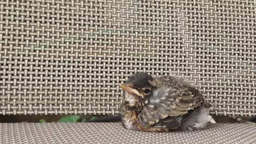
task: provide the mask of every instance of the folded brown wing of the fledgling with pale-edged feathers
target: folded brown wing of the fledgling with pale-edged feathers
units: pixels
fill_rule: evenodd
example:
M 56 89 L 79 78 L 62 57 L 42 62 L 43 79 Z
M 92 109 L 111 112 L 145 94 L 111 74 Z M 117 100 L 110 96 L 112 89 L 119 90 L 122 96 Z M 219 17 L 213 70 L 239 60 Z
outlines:
M 184 85 L 184 84 L 182 84 Z M 188 85 L 189 86 L 189 85 Z M 144 106 L 137 117 L 137 122 L 144 127 L 162 122 L 167 117 L 189 116 L 193 110 L 205 104 L 205 98 L 194 87 L 162 85 L 155 89 L 148 106 Z M 192 110 L 192 111 L 191 111 Z M 173 118 L 168 118 L 169 123 L 179 126 Z

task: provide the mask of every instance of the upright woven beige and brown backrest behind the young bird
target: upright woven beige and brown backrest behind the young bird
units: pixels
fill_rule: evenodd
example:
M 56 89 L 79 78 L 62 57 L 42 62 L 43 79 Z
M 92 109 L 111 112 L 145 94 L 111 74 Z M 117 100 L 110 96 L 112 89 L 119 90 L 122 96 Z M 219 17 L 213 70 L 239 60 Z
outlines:
M 255 1 L 0 1 L 0 115 L 118 114 L 137 72 L 255 116 Z

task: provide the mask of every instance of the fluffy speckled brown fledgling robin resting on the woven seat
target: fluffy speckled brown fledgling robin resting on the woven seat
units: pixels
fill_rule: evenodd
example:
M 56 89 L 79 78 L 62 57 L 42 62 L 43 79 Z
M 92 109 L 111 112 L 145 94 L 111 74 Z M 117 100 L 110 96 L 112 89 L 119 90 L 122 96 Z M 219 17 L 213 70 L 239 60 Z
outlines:
M 181 77 L 137 73 L 120 87 L 125 91 L 121 117 L 127 129 L 196 130 L 211 120 L 211 104 Z

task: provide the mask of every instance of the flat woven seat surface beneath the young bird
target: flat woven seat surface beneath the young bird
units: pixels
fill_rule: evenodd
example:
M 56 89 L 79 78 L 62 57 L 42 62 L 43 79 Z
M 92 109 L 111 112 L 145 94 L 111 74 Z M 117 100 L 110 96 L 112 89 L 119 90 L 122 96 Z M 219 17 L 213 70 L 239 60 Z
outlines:
M 197 131 L 153 133 L 121 123 L 1 123 L 0 143 L 255 143 L 253 124 L 211 124 Z

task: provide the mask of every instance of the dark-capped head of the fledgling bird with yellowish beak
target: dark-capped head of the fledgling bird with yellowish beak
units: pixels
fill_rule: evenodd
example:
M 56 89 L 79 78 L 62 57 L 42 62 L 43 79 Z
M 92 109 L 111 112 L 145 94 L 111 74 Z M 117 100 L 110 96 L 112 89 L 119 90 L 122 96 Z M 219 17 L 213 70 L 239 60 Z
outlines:
M 125 91 L 126 99 L 144 99 L 148 98 L 153 93 L 153 86 L 150 85 L 149 81 L 153 80 L 153 77 L 147 73 L 133 74 L 125 82 L 120 85 Z

